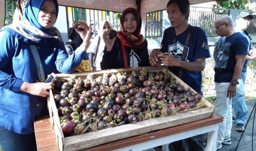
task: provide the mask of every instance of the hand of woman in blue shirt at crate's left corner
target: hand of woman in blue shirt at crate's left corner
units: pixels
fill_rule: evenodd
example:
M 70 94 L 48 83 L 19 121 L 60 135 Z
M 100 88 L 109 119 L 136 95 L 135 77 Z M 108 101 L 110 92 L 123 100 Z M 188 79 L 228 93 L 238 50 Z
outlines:
M 50 95 L 49 90 L 54 89 L 54 86 L 55 86 L 54 83 L 42 83 L 42 82 L 27 83 L 27 82 L 24 82 L 20 87 L 20 91 L 27 92 L 31 95 L 46 97 L 47 95 Z

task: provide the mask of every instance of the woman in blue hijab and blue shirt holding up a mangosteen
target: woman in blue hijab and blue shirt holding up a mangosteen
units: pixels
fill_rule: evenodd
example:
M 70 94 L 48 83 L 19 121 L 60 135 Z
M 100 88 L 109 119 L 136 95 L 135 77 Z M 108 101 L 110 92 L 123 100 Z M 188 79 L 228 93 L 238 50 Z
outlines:
M 80 23 L 78 27 L 85 30 L 77 32 L 83 43 L 68 57 L 63 43 L 51 36 L 57 16 L 57 0 L 30 0 L 21 21 L 0 30 L 0 146 L 3 150 L 36 150 L 33 121 L 47 113 L 46 96 L 55 86 L 43 83 L 43 79 L 52 72 L 72 73 L 84 59 L 91 27 Z M 33 45 L 35 48 L 30 49 Z M 32 51 L 38 51 L 40 72 Z

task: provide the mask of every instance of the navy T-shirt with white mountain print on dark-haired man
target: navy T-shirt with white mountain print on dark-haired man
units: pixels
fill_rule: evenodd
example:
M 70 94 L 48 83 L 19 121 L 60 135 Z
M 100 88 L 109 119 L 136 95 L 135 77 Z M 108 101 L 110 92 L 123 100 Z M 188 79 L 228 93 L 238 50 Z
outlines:
M 208 40 L 203 31 L 199 27 L 189 25 L 187 30 L 176 36 L 175 28 L 169 27 L 164 32 L 164 37 L 161 43 L 161 51 L 163 53 L 171 53 L 177 59 L 182 59 L 182 53 L 188 32 L 191 31 L 191 35 L 188 43 L 188 53 L 185 58 L 187 62 L 195 62 L 200 58 L 210 57 L 210 51 L 208 47 Z M 178 76 L 179 67 L 168 67 L 172 73 Z M 188 84 L 192 89 L 201 94 L 202 75 L 201 71 L 187 71 L 183 70 L 182 80 Z

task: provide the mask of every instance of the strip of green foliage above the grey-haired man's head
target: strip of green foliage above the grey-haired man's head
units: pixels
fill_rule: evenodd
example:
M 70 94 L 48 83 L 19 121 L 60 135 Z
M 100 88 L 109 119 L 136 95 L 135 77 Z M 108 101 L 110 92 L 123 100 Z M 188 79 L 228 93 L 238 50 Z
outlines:
M 248 0 L 229 0 L 229 1 L 217 1 L 213 5 L 214 8 L 225 8 L 225 9 L 239 9 L 239 10 L 249 10 L 245 5 Z

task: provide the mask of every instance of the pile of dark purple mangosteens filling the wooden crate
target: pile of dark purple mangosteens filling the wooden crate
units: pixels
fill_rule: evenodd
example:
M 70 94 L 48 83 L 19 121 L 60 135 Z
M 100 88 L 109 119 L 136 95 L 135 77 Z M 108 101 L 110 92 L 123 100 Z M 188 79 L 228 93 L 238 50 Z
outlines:
M 55 98 L 65 136 L 137 123 L 203 108 L 201 96 L 166 72 L 103 74 L 55 80 Z

